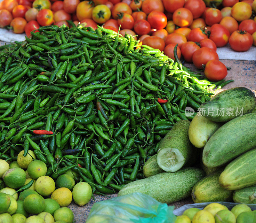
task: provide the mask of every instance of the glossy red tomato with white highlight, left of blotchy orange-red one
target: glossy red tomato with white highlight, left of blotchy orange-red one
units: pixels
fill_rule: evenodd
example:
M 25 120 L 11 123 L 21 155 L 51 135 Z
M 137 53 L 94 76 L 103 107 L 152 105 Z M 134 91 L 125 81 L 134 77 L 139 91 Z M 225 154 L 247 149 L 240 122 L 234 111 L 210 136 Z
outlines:
M 163 12 L 152 11 L 148 14 L 148 22 L 153 29 L 163 29 L 167 25 L 167 18 Z

